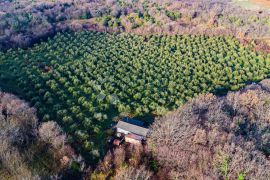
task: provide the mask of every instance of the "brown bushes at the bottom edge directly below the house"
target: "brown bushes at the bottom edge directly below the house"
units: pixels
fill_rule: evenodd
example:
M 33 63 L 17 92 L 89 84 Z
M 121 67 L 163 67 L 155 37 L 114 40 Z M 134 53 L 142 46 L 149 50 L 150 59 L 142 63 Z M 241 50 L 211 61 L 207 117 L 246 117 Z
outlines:
M 90 175 L 92 179 L 150 179 L 149 157 L 142 146 L 125 144 L 108 151 Z

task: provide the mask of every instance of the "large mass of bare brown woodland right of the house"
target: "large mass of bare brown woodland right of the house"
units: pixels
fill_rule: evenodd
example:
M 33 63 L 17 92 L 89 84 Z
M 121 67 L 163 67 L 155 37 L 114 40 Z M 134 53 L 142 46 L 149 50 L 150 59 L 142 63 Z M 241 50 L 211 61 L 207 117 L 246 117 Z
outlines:
M 172 179 L 270 178 L 270 93 L 263 89 L 200 95 L 158 118 L 148 139 L 155 158 Z

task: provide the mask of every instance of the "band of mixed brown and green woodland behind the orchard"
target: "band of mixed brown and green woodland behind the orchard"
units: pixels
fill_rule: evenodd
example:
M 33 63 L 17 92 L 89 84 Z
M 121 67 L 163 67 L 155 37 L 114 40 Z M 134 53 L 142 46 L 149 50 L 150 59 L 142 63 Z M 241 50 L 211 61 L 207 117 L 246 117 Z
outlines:
M 59 31 L 269 37 L 269 13 L 230 1 L 1 1 L 0 49 L 29 47 Z

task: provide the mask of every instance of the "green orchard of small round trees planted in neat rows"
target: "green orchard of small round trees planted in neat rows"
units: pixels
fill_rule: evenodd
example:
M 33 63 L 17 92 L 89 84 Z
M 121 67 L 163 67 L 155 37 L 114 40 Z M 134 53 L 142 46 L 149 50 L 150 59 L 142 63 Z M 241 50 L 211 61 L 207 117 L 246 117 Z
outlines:
M 204 92 L 237 90 L 269 75 L 270 60 L 233 38 L 57 34 L 0 53 L 1 86 L 19 89 L 43 120 L 57 120 L 80 152 L 103 155 L 120 113 L 162 115 Z

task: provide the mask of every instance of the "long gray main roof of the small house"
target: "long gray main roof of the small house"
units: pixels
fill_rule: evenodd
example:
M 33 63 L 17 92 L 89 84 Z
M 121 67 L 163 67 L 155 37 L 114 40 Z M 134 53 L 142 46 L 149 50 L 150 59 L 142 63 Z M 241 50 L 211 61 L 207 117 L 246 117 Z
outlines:
M 124 121 L 118 121 L 116 127 L 140 136 L 146 136 L 149 131 L 147 128 L 136 126 Z

